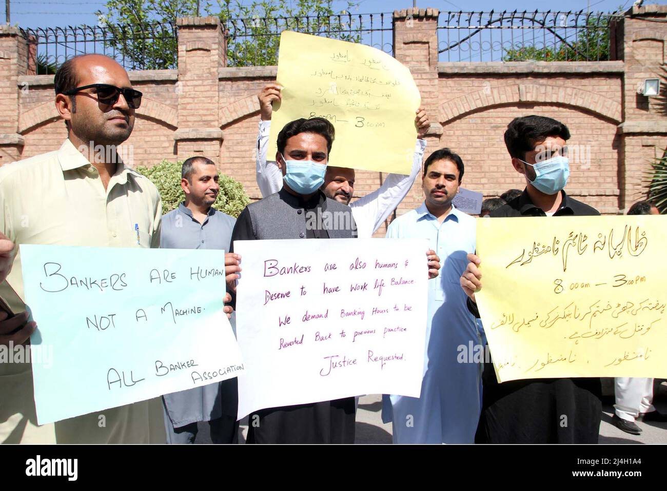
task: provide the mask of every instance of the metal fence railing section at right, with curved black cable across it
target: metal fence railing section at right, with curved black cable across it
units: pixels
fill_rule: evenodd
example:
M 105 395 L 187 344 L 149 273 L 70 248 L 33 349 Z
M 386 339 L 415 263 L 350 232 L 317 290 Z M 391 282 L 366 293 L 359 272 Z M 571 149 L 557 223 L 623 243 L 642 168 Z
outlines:
M 442 12 L 440 61 L 604 61 L 614 15 L 580 12 Z

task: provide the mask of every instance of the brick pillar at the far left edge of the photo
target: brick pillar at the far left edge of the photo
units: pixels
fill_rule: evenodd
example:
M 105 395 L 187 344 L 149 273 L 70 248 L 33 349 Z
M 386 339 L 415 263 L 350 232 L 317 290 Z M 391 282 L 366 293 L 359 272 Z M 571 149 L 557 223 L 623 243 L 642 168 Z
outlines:
M 18 79 L 27 75 L 28 46 L 17 27 L 0 25 L 0 165 L 21 159 L 23 137 L 17 133 Z

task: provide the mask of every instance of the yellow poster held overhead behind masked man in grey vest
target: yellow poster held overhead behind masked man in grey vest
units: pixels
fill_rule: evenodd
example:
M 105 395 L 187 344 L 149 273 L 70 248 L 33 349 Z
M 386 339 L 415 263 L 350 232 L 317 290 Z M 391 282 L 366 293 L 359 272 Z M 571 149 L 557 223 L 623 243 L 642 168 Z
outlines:
M 323 117 L 336 129 L 329 165 L 410 174 L 420 93 L 404 65 L 379 49 L 283 31 L 268 158 L 285 124 Z

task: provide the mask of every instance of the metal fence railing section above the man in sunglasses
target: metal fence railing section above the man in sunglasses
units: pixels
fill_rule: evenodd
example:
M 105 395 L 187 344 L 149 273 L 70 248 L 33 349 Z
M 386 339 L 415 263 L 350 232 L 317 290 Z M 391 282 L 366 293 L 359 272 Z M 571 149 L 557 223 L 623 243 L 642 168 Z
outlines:
M 175 23 L 37 27 L 21 33 L 32 75 L 55 73 L 65 60 L 84 53 L 109 55 L 127 70 L 175 68 L 178 61 Z

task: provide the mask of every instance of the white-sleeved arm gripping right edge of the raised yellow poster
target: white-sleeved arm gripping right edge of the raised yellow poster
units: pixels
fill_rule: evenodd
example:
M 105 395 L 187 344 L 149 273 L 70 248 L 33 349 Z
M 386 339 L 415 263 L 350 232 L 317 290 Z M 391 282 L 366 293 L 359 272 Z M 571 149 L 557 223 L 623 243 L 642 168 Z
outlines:
M 424 159 L 424 150 L 426 149 L 426 141 L 423 138 L 428 131 L 430 123 L 424 108 L 420 107 L 416 113 L 415 125 L 418 129 L 418 140 L 412 158 L 410 175 L 389 174 L 384 183 L 382 183 L 382 186 L 376 189 L 376 191 L 369 193 L 350 205 L 350 207 L 355 209 L 355 215 L 363 213 L 369 217 L 369 220 L 372 219 L 373 233 L 380 228 L 380 225 L 389 217 L 390 213 L 403 201 L 422 169 L 422 159 Z

